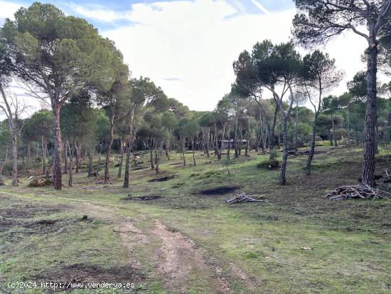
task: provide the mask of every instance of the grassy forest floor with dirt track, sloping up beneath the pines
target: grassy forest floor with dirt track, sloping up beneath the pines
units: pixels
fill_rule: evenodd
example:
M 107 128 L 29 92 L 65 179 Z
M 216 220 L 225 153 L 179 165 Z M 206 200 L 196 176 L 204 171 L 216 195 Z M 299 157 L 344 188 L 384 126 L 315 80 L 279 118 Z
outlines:
M 358 183 L 362 152 L 318 149 L 326 153 L 316 154 L 309 177 L 306 157 L 289 157 L 285 186 L 277 184 L 278 169 L 257 168 L 267 155 L 255 152 L 232 159 L 230 175 L 222 162 L 200 153 L 195 167 L 183 167 L 174 152 L 170 161 L 161 156 L 156 175 L 145 154 L 139 160 L 146 168 L 131 172 L 129 189 L 115 167 L 112 184 L 94 184 L 99 179 L 82 169 L 62 191 L 28 188 L 34 173 L 18 187 L 6 182 L 0 293 L 53 293 L 65 289 L 41 288 L 41 282 L 102 281 L 134 288 L 66 291 L 391 293 L 391 201 L 323 198 Z M 192 163 L 191 153 L 186 157 Z M 390 164 L 385 152 L 377 155 L 378 173 Z M 225 204 L 238 193 L 269 202 Z M 21 281 L 31 288 L 9 288 Z

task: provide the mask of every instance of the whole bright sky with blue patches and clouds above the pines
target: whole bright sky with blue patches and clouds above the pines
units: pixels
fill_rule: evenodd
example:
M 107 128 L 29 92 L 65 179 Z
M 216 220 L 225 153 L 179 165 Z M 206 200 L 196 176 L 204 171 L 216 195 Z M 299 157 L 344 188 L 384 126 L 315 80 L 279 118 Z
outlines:
M 0 0 L 0 24 L 33 1 Z M 295 14 L 291 0 L 89 0 L 50 3 L 80 16 L 112 39 L 132 71 L 191 110 L 213 110 L 235 81 L 232 63 L 257 41 L 289 41 Z M 365 40 L 346 33 L 321 50 L 336 58 L 346 75 L 332 94 L 365 69 Z M 301 53 L 304 49 L 298 48 Z M 14 86 L 16 92 L 20 88 Z M 272 96 L 270 96 L 272 97 Z M 33 99 L 33 98 L 31 98 Z M 33 103 L 34 104 L 34 103 Z M 35 105 L 37 105 L 35 103 Z M 37 106 L 36 106 L 37 107 Z

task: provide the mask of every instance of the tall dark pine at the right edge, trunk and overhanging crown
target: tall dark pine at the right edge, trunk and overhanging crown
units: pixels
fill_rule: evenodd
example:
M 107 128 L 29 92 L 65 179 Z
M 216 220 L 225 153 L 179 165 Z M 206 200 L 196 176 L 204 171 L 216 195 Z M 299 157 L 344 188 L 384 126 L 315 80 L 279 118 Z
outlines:
M 376 72 L 378 45 L 391 34 L 391 0 L 295 0 L 293 31 L 306 47 L 344 31 L 365 38 L 368 97 L 365 113 L 363 185 L 375 185 Z

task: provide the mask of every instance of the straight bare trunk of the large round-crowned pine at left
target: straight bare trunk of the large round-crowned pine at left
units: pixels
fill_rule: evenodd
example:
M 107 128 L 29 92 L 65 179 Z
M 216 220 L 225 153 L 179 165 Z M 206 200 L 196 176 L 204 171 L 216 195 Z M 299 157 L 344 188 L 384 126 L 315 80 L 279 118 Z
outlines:
M 63 174 L 61 173 L 61 149 L 63 147 L 63 143 L 61 142 L 59 105 L 53 105 L 53 140 L 53 187 L 60 190 L 63 186 Z

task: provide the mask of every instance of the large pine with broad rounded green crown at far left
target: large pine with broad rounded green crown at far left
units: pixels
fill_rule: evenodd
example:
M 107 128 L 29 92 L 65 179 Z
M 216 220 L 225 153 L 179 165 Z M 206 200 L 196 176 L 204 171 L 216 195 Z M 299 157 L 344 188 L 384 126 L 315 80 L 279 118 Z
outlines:
M 75 93 L 99 80 L 114 82 L 110 53 L 90 23 L 65 16 L 52 4 L 33 3 L 16 11 L 0 29 L 16 77 L 32 95 L 50 100 L 53 111 L 53 186 L 61 189 L 60 109 Z

